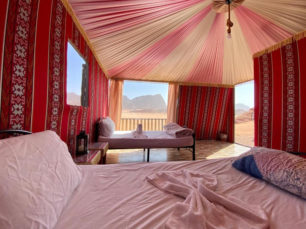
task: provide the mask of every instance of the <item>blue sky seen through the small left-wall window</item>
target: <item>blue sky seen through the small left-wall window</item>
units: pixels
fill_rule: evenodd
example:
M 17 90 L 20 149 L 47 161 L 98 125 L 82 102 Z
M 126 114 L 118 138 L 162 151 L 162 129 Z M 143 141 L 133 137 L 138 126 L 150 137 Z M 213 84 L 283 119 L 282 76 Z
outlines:
M 81 95 L 82 64 L 85 64 L 85 61 L 68 42 L 67 92 L 74 92 L 77 95 Z

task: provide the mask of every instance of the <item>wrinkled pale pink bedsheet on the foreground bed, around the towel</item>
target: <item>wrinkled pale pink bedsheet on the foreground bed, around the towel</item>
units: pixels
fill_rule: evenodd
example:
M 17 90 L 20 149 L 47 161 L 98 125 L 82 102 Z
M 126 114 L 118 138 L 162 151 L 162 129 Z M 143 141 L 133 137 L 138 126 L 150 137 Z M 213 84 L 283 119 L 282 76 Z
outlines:
M 176 202 L 185 198 L 159 190 L 146 176 L 178 169 L 214 174 L 215 191 L 262 206 L 270 229 L 305 228 L 306 200 L 233 168 L 230 160 L 80 165 L 82 181 L 54 229 L 164 228 Z

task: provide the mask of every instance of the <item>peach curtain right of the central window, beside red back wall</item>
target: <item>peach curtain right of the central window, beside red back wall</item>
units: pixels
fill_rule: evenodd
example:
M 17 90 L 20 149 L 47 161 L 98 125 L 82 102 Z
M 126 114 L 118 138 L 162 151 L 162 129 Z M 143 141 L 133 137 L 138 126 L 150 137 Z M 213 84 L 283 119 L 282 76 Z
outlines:
M 167 123 L 176 122 L 176 109 L 178 98 L 179 85 L 169 83 L 168 89 L 168 108 L 167 108 Z

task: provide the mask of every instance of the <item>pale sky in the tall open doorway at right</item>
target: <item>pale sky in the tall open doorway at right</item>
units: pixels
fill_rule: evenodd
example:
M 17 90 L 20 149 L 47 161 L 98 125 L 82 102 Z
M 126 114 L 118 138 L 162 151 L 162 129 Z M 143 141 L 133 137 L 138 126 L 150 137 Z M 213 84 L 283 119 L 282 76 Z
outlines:
M 235 87 L 235 104 L 254 107 L 254 81 Z

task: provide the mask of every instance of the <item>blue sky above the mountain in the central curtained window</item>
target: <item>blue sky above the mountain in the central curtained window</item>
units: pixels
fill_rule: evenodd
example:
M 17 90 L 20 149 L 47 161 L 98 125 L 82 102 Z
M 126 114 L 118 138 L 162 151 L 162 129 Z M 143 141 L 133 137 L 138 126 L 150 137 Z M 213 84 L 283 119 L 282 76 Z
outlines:
M 168 102 L 168 84 L 124 82 L 123 95 L 133 99 L 137 96 L 161 94 L 166 104 Z

